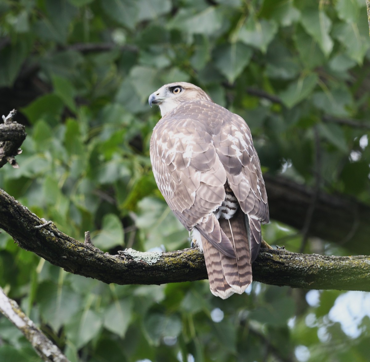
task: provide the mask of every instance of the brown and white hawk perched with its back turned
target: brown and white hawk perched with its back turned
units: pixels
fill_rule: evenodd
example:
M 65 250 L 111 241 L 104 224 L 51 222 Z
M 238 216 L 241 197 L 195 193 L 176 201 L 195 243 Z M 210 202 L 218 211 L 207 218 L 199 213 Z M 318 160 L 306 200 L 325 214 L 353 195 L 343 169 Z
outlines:
M 158 188 L 203 251 L 212 294 L 242 294 L 252 282 L 261 223 L 269 221 L 249 127 L 191 83 L 162 86 L 152 104 L 162 115 L 150 140 Z

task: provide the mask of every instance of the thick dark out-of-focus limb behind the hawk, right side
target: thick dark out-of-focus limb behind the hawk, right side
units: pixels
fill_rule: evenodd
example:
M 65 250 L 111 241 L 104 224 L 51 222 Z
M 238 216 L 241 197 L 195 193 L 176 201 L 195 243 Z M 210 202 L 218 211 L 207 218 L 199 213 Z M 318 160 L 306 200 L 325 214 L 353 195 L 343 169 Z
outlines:
M 263 175 L 270 218 L 298 230 L 305 224 L 314 191 L 278 175 Z M 344 245 L 353 254 L 370 255 L 370 207 L 346 195 L 319 193 L 308 235 Z

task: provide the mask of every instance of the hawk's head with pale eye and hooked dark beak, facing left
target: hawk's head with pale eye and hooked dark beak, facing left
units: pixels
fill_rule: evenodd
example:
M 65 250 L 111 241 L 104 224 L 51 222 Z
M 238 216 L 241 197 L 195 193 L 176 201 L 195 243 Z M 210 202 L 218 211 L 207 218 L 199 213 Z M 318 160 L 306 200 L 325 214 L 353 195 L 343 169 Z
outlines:
M 162 117 L 186 101 L 207 100 L 211 101 L 205 91 L 186 82 L 169 83 L 162 86 L 149 97 L 149 105 L 158 104 Z

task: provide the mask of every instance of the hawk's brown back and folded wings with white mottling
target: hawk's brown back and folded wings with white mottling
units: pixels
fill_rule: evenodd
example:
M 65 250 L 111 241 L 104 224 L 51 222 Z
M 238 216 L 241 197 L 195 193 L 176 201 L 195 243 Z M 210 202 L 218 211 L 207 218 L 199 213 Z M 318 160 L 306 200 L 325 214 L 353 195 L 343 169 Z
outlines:
M 249 217 L 254 259 L 268 206 L 245 121 L 209 101 L 184 102 L 158 122 L 150 151 L 158 188 L 182 224 L 189 230 L 196 227 L 223 254 L 235 258 L 235 248 L 213 214 L 225 200 L 228 180 Z

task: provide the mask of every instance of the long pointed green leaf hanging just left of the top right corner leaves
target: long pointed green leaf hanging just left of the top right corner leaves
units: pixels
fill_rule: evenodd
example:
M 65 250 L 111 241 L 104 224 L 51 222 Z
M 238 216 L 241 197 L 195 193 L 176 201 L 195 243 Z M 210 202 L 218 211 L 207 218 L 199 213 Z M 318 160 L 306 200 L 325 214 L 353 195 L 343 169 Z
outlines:
M 329 35 L 332 21 L 324 11 L 317 9 L 305 9 L 302 11 L 301 24 L 308 34 L 319 43 L 323 53 L 328 56 L 333 49 L 334 42 Z

